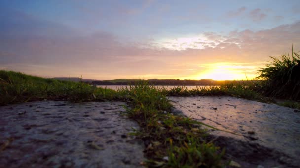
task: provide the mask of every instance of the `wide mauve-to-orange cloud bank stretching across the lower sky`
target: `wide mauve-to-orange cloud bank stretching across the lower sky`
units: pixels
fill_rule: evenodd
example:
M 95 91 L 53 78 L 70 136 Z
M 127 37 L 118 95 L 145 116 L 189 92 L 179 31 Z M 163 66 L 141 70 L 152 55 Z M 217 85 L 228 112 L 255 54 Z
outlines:
M 4 13 L 0 18 L 0 69 L 48 77 L 196 78 L 205 71 L 203 64 L 235 62 L 256 67 L 263 65 L 257 62 L 269 60 L 268 56 L 289 52 L 292 44 L 295 50 L 300 47 L 300 22 L 263 31 L 205 32 L 200 37 L 182 38 L 183 43 L 189 42 L 186 45 L 200 48 L 187 46 L 178 51 L 153 46 L 153 42 L 159 44 L 155 40 L 132 43 L 102 31 L 86 35 L 24 13 Z

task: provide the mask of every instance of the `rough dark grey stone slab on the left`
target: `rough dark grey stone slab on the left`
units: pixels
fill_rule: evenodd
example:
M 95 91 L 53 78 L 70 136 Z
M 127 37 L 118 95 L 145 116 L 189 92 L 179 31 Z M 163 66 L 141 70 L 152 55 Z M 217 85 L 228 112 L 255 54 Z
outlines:
M 134 168 L 144 145 L 121 102 L 38 101 L 0 107 L 0 167 Z

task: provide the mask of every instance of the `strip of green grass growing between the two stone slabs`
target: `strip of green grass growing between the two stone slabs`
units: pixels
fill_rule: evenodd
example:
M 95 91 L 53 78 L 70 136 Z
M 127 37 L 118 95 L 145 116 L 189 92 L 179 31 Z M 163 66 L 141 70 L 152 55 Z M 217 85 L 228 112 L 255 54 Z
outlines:
M 130 101 L 127 115 L 135 119 L 142 130 L 136 135 L 144 140 L 149 167 L 225 166 L 225 150 L 207 142 L 207 133 L 200 122 L 170 113 L 166 93 L 140 81 L 119 92 Z

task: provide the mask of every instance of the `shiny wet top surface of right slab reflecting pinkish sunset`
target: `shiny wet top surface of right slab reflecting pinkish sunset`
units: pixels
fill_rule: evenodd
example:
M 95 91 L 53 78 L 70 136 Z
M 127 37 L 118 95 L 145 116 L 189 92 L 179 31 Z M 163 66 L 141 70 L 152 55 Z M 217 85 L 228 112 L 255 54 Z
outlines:
M 228 96 L 170 100 L 190 118 L 239 134 L 211 131 L 213 135 L 255 142 L 294 159 L 300 155 L 300 113 L 294 109 Z

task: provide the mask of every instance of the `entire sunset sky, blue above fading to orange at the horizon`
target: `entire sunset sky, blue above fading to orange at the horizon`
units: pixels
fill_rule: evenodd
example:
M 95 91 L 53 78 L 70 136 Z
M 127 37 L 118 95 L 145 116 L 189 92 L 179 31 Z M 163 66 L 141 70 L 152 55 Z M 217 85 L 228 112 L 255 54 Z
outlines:
M 245 80 L 300 51 L 300 0 L 1 0 L 0 69 Z

